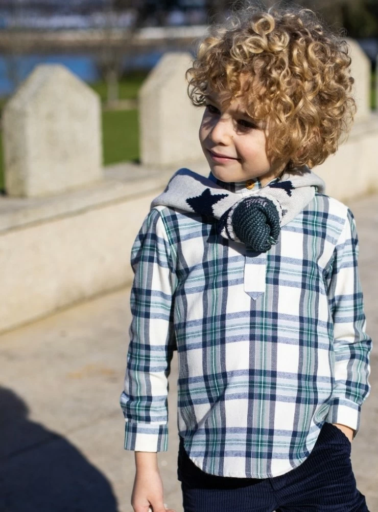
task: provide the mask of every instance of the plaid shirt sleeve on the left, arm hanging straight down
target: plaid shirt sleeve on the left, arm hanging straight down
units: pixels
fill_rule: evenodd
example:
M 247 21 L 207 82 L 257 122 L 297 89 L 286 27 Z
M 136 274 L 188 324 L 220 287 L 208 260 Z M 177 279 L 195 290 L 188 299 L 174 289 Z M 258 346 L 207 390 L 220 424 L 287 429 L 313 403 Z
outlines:
M 175 350 L 175 273 L 163 221 L 150 210 L 131 250 L 134 279 L 132 321 L 124 390 L 121 394 L 125 449 L 168 450 L 168 376 Z

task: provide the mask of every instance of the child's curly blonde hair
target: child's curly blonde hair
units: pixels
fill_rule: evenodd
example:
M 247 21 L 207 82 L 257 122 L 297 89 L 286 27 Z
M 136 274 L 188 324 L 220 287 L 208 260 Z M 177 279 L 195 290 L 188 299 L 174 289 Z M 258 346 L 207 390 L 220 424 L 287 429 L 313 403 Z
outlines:
M 349 52 L 310 9 L 247 2 L 198 41 L 187 93 L 195 106 L 211 91 L 222 104 L 241 95 L 254 120 L 269 120 L 268 156 L 312 168 L 337 151 L 356 113 Z

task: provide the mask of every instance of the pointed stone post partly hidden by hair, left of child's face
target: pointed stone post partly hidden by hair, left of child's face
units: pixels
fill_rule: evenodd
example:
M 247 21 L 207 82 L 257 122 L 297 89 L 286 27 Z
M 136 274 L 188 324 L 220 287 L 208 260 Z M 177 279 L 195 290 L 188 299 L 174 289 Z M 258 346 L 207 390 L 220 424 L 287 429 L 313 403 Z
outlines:
M 187 95 L 190 53 L 165 53 L 138 94 L 140 160 L 155 167 L 205 159 L 198 139 L 203 108 Z

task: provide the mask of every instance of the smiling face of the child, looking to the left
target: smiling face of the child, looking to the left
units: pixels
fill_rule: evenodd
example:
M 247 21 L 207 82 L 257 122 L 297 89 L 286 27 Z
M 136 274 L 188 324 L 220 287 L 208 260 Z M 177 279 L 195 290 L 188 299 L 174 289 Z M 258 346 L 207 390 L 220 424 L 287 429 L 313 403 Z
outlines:
M 199 130 L 202 151 L 212 174 L 221 181 L 259 178 L 265 185 L 277 176 L 287 162 L 271 164 L 266 153 L 268 129 L 247 114 L 238 97 L 222 112 L 219 93 L 212 92 Z M 214 153 L 228 158 L 217 158 Z

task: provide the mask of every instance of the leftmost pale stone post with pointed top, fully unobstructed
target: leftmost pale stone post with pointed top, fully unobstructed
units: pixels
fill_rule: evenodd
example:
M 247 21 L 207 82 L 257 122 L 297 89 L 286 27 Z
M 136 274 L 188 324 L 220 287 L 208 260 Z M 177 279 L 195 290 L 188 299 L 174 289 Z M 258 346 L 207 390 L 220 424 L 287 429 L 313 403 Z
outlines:
M 37 66 L 3 111 L 9 196 L 57 194 L 102 179 L 101 103 L 61 65 Z

